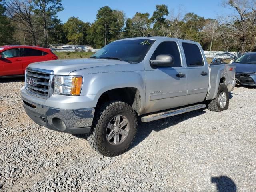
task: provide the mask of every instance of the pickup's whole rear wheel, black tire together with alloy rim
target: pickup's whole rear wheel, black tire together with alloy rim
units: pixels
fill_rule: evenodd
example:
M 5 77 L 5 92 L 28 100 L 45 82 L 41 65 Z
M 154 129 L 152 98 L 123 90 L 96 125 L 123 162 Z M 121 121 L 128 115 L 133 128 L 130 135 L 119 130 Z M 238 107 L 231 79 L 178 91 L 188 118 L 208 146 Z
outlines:
M 228 94 L 228 88 L 225 84 L 219 85 L 219 90 L 217 97 L 214 100 L 211 100 L 208 104 L 208 109 L 210 111 L 223 111 L 228 109 L 229 105 L 229 94 Z

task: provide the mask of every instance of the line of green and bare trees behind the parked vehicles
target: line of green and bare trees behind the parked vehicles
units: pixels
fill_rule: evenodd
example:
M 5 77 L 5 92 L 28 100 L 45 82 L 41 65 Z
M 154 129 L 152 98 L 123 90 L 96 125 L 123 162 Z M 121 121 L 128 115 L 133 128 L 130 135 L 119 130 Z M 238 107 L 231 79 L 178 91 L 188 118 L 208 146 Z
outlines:
M 136 12 L 126 19 L 124 12 L 104 6 L 92 24 L 76 17 L 70 17 L 63 24 L 56 16 L 64 9 L 61 0 L 5 0 L 8 17 L 0 0 L 0 44 L 48 46 L 50 42 L 102 48 L 114 40 L 150 34 L 194 40 L 200 42 L 204 50 L 256 50 L 256 5 L 251 1 L 225 1 L 234 10 L 230 16 L 233 20 L 226 24 L 195 13 L 175 15 L 165 4 L 156 5 L 151 18 L 150 13 Z

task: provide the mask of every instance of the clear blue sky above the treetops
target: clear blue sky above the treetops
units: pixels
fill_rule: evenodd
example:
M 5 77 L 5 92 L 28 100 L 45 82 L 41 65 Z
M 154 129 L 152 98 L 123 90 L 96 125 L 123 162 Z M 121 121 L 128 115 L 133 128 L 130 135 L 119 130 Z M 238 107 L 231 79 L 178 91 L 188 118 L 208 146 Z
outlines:
M 58 13 L 58 18 L 66 22 L 68 18 L 78 17 L 83 22 L 94 22 L 97 10 L 103 6 L 124 11 L 127 18 L 132 18 L 136 12 L 150 16 L 156 10 L 157 4 L 166 4 L 168 10 L 182 10 L 184 13 L 194 12 L 206 19 L 217 19 L 221 15 L 232 12 L 221 6 L 223 0 L 62 0 L 64 10 Z

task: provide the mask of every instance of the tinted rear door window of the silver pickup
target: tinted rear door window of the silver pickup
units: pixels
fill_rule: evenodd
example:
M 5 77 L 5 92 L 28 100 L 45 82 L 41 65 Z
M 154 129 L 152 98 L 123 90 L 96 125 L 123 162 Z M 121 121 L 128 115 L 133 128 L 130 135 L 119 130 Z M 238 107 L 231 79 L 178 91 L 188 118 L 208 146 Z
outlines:
M 188 67 L 204 66 L 199 47 L 196 44 L 182 43 Z

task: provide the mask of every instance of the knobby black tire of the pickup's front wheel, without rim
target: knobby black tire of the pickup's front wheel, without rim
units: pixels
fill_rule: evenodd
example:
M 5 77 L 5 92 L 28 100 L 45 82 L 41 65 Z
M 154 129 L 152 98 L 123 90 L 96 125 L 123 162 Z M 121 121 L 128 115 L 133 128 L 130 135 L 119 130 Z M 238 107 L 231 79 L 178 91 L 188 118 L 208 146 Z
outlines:
M 115 116 L 125 116 L 129 123 L 129 131 L 120 144 L 113 145 L 107 141 L 107 126 Z M 88 142 L 96 151 L 104 156 L 113 157 L 124 153 L 132 144 L 137 132 L 137 116 L 131 106 L 124 102 L 108 102 L 96 113 Z M 113 131 L 114 132 L 114 131 Z

